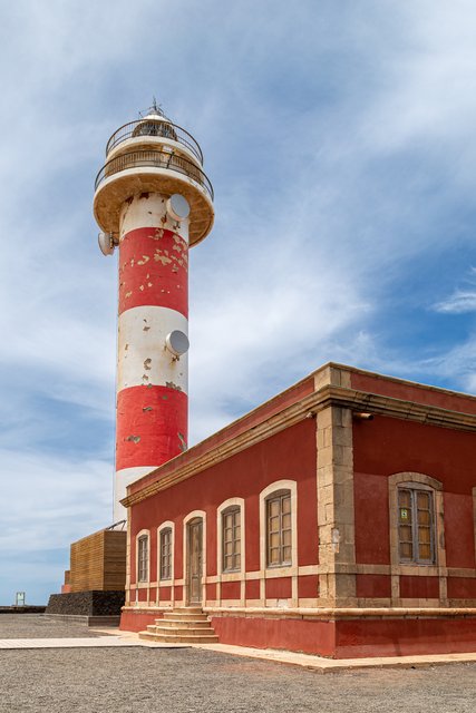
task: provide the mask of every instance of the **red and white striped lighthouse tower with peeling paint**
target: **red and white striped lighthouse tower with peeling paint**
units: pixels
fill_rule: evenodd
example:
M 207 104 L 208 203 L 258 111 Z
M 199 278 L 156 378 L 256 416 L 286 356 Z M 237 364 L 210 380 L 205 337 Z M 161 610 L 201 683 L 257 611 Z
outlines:
M 119 247 L 115 521 L 126 487 L 187 447 L 188 246 L 214 217 L 202 166 L 154 105 L 113 134 L 96 178 L 99 245 Z

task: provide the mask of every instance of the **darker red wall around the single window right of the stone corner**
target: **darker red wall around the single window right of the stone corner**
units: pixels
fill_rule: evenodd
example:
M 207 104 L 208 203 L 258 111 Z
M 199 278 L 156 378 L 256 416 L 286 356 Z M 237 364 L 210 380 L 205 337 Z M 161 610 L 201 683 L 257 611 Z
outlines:
M 372 421 L 354 421 L 357 561 L 390 564 L 388 477 L 415 471 L 443 484 L 447 566 L 474 568 L 475 450 L 475 436 L 470 432 L 380 416 Z M 408 584 L 402 586 L 405 592 L 410 592 Z M 421 583 L 419 587 L 420 590 Z

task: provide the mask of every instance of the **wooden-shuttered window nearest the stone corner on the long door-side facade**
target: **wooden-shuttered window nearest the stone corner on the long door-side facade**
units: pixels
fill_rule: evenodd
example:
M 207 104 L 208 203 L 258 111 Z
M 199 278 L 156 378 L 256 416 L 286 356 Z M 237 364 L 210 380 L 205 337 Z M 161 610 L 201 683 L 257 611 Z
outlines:
M 265 499 L 266 565 L 292 564 L 291 491 L 279 490 Z

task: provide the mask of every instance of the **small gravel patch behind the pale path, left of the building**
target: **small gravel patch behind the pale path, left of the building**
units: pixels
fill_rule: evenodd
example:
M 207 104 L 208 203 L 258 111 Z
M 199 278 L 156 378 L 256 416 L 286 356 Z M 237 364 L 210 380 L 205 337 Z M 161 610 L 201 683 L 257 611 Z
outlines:
M 57 622 L 42 614 L 0 614 L 0 638 L 84 638 L 104 636 L 81 622 Z

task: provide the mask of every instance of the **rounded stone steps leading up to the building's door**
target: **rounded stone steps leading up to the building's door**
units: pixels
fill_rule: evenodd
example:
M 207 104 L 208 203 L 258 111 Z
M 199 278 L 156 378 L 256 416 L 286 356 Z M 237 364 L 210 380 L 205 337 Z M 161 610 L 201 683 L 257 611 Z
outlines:
M 216 644 L 218 637 L 201 607 L 176 607 L 164 612 L 164 618 L 155 619 L 139 638 L 161 644 Z

